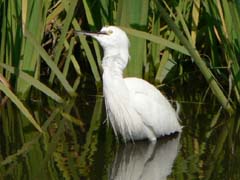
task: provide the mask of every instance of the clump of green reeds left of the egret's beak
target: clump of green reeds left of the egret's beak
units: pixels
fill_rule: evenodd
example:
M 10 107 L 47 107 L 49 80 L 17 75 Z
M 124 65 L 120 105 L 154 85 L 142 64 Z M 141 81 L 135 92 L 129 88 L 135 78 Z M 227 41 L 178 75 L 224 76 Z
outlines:
M 60 1 L 59 1 L 60 2 Z M 42 63 L 44 60 L 48 67 L 51 69 L 51 75 L 49 82 L 52 82 L 53 77 L 57 77 L 61 86 L 65 88 L 69 95 L 74 96 L 75 89 L 67 80 L 66 74 L 69 72 L 69 64 L 72 62 L 75 67 L 76 73 L 80 74 L 79 66 L 76 63 L 75 57 L 72 55 L 73 41 L 70 48 L 66 34 L 68 33 L 69 25 L 72 22 L 74 9 L 77 1 L 48 1 L 40 0 L 37 2 L 28 0 L 17 1 L 1 1 L 1 51 L 0 51 L 0 73 L 9 82 L 10 87 L 1 84 L 1 91 L 13 101 L 21 112 L 27 117 L 30 123 L 32 123 L 39 131 L 42 131 L 30 111 L 24 106 L 20 99 L 26 100 L 30 96 L 31 87 L 36 88 L 47 96 L 51 97 L 58 103 L 63 102 L 63 98 L 56 92 L 48 87 L 48 84 L 41 82 Z M 64 4 L 65 6 L 61 6 Z M 53 7 L 50 7 L 50 6 Z M 57 5 L 56 7 L 54 7 Z M 50 26 L 47 23 L 51 23 L 56 18 L 57 7 L 65 7 L 58 13 L 66 12 L 64 18 L 64 27 L 61 31 L 62 34 L 59 37 L 56 46 L 55 61 L 52 60 L 42 46 L 42 42 L 45 39 L 47 27 Z M 54 10 L 52 10 L 53 8 Z M 59 14 L 58 14 L 59 15 Z M 63 20 L 61 20 L 63 21 Z M 53 34 L 54 35 L 54 34 Z M 51 40 L 51 39 L 50 39 Z M 65 43 L 65 44 L 64 44 Z M 63 52 L 63 47 L 69 52 L 69 56 L 66 57 L 65 66 L 63 71 L 58 67 L 58 60 Z M 55 75 L 55 76 L 54 76 Z M 79 82 L 79 78 L 76 79 Z M 76 86 L 77 83 L 74 83 Z M 15 94 L 14 94 L 15 93 Z

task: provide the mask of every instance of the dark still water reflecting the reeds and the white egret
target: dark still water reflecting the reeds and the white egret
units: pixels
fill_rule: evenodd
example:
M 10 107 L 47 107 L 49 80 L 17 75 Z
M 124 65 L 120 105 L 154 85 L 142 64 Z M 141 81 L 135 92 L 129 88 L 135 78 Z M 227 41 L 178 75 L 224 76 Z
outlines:
M 101 95 L 28 103 L 46 134 L 8 102 L 0 115 L 0 179 L 240 179 L 239 116 L 230 118 L 213 97 L 186 97 L 176 97 L 183 132 L 156 144 L 116 140 Z

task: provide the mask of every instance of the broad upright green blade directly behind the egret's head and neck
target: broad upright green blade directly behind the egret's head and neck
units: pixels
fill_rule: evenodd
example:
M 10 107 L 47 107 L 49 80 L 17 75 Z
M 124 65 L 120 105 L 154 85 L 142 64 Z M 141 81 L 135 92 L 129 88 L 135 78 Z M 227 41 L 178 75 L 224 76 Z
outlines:
M 138 30 L 147 30 L 149 1 L 122 0 L 118 3 L 117 24 Z M 146 40 L 129 36 L 130 61 L 125 72 L 130 76 L 142 77 L 143 65 L 147 60 Z

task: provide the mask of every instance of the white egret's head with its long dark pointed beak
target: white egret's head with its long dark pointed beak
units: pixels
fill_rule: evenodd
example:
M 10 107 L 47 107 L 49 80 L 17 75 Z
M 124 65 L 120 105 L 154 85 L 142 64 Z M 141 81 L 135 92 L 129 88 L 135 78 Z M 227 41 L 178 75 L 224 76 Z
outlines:
M 80 32 L 92 36 L 107 49 L 128 49 L 129 40 L 126 33 L 116 26 L 105 26 L 99 32 Z

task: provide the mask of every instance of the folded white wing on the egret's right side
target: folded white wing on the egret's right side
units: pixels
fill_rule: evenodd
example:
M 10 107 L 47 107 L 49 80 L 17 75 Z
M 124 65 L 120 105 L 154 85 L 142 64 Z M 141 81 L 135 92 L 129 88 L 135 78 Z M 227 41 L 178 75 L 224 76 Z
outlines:
M 125 78 L 131 106 L 156 136 L 181 131 L 178 116 L 168 100 L 153 85 L 138 78 Z

